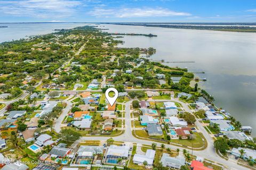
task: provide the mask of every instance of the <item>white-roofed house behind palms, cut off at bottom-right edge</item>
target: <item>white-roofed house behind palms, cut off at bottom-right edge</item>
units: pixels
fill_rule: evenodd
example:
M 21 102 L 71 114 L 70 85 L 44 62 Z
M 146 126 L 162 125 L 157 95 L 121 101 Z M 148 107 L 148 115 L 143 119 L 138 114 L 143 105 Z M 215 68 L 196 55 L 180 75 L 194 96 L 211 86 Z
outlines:
M 255 162 L 256 150 L 239 147 L 239 148 L 233 148 L 231 150 L 231 154 L 235 155 L 236 157 L 241 157 L 241 153 L 239 152 L 239 150 L 241 150 L 241 149 L 244 150 L 244 155 L 242 156 L 243 159 L 245 159 L 245 160 L 252 160 L 253 162 Z

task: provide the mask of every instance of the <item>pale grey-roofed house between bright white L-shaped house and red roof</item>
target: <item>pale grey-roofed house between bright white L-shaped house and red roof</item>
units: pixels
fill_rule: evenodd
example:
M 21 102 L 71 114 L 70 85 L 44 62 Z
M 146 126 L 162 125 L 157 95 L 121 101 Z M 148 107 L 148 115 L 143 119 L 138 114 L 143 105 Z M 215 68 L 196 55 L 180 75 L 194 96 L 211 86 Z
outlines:
M 185 158 L 181 156 L 170 157 L 169 154 L 163 153 L 160 162 L 164 167 L 169 167 L 171 169 L 180 169 L 182 165 L 185 165 Z

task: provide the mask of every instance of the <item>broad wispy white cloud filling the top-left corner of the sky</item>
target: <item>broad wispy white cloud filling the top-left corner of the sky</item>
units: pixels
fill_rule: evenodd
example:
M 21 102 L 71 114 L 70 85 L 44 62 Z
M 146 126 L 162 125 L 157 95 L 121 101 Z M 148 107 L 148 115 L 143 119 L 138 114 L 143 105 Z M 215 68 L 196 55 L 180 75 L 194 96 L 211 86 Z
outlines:
M 62 18 L 75 13 L 81 5 L 77 0 L 24 0 L 0 1 L 0 15 L 28 16 L 36 18 Z

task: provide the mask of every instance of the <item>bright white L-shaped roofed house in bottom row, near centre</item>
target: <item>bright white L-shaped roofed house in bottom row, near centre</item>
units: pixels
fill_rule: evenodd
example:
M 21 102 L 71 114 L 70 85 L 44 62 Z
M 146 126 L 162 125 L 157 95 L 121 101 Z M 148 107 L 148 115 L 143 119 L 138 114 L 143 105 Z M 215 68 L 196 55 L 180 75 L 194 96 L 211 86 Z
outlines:
M 132 161 L 134 164 L 138 164 L 138 165 L 143 165 L 143 162 L 146 161 L 148 163 L 147 166 L 151 167 L 153 166 L 155 154 L 156 154 L 155 150 L 148 149 L 145 155 L 135 154 L 133 156 Z

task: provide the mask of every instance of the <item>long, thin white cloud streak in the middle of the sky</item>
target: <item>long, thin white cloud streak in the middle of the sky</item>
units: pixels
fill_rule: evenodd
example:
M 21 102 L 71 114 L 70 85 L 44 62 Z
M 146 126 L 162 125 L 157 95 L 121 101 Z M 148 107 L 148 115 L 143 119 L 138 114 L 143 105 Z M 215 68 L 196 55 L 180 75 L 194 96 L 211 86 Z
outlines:
M 95 7 L 90 15 L 105 18 L 140 18 L 151 16 L 190 16 L 187 12 L 176 12 L 166 8 L 110 8 Z

